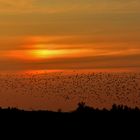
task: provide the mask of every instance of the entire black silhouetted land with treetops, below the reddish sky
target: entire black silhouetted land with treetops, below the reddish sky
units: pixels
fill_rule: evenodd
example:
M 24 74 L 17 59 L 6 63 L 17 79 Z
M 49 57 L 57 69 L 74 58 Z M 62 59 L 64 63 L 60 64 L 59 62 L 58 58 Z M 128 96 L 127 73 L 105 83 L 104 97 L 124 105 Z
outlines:
M 139 136 L 140 109 L 113 105 L 111 110 L 98 110 L 84 103 L 79 103 L 72 112 L 7 108 L 0 109 L 0 127 L 1 133 L 11 131 L 14 135 L 20 134 L 20 137 L 25 134 L 38 135 L 39 139 L 44 136 L 48 138 L 48 135 L 67 139 L 75 134 L 79 137 L 84 135 L 86 139 L 90 136 L 108 138 L 121 134 L 134 138 L 137 134 Z

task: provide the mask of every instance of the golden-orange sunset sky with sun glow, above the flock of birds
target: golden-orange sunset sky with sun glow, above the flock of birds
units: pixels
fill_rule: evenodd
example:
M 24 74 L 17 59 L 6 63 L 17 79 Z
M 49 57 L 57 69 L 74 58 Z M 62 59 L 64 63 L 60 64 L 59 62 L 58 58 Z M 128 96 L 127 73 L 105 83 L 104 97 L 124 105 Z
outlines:
M 140 0 L 0 0 L 0 70 L 140 68 Z

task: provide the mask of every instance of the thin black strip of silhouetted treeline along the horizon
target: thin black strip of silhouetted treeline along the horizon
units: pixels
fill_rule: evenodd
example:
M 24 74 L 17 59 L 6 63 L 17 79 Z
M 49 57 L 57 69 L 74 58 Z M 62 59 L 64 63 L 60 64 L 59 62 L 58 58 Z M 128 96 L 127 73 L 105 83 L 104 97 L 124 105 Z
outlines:
M 59 109 L 57 112 L 54 111 L 48 111 L 48 110 L 33 110 L 33 111 L 26 111 L 26 110 L 21 110 L 21 109 L 17 109 L 17 108 L 1 108 L 0 107 L 0 113 L 54 113 L 54 114 L 88 114 L 88 113 L 127 113 L 127 112 L 137 112 L 140 113 L 140 109 L 138 107 L 135 108 L 131 108 L 128 106 L 124 106 L 124 105 L 112 105 L 112 108 L 109 109 L 98 109 L 98 108 L 93 108 L 90 106 L 87 106 L 84 102 L 80 102 L 78 103 L 78 107 L 76 108 L 76 110 L 71 111 L 71 112 L 62 112 L 61 109 Z

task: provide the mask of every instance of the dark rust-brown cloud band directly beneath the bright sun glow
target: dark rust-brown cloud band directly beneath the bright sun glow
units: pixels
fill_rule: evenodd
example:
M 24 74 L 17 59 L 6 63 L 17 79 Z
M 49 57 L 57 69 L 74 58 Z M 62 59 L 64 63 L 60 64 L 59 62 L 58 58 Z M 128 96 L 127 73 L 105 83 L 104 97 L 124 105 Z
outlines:
M 0 60 L 0 70 L 140 68 L 140 55 L 73 57 L 43 61 Z M 21 65 L 22 64 L 22 65 Z

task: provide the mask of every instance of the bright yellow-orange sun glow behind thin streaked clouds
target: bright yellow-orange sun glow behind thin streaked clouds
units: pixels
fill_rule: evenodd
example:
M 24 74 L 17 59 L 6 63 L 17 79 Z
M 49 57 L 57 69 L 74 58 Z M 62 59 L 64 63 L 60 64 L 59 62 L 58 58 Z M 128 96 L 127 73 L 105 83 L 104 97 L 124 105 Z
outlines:
M 73 57 L 81 54 L 80 49 L 57 49 L 57 45 L 36 43 L 31 45 L 31 50 L 27 50 L 30 59 L 47 59 L 56 57 Z M 84 51 L 85 52 L 85 51 Z

